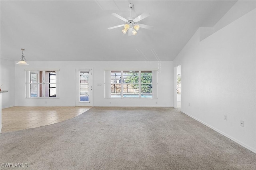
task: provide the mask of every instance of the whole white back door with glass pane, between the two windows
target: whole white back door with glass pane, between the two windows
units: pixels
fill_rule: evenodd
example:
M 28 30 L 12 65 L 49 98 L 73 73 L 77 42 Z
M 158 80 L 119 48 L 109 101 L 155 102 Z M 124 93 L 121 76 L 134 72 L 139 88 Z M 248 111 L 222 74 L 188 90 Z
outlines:
M 76 69 L 76 106 L 92 106 L 92 69 Z

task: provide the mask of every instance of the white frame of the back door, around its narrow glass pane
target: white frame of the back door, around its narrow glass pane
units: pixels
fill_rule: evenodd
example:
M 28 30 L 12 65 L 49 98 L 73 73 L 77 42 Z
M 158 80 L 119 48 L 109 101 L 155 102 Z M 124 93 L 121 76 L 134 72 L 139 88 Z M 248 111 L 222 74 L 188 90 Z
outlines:
M 80 101 L 80 71 L 89 71 L 89 101 Z M 92 69 L 76 69 L 76 106 L 93 106 L 93 73 Z

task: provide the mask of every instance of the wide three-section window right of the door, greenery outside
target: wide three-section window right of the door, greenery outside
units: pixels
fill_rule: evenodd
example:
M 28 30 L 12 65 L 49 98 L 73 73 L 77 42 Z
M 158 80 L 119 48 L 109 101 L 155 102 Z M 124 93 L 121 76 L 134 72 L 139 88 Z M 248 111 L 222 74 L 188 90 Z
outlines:
M 157 98 L 157 70 L 105 70 L 105 98 Z

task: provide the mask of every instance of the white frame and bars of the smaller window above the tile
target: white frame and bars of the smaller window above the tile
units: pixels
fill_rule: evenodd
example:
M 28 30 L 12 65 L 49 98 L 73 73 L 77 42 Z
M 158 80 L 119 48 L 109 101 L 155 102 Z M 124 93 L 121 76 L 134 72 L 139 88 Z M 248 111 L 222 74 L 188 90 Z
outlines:
M 59 81 L 58 81 L 58 77 L 59 77 L 59 71 L 60 69 L 24 69 L 24 71 L 26 71 L 26 98 L 32 98 L 32 99 L 42 99 L 42 98 L 50 98 L 50 99 L 58 99 L 59 95 L 58 95 L 58 91 L 59 91 Z M 37 83 L 31 83 L 30 82 L 30 74 L 31 73 L 37 73 L 39 76 L 39 72 L 42 71 L 42 83 L 40 83 L 40 77 L 38 77 L 38 82 Z M 44 82 L 44 78 L 45 78 L 45 71 L 55 71 L 56 73 L 56 83 L 45 83 Z M 30 93 L 30 85 L 31 84 L 37 84 L 37 94 L 40 93 L 40 85 L 42 85 L 41 89 L 42 89 L 42 97 L 31 97 Z M 45 85 L 46 84 L 55 84 L 56 85 L 56 97 L 48 97 L 45 96 Z M 49 92 L 50 93 L 50 92 Z

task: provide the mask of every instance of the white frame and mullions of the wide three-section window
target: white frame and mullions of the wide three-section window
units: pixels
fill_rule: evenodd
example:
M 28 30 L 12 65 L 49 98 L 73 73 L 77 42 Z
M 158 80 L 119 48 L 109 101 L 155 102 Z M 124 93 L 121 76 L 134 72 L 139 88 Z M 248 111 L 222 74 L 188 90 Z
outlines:
M 124 97 L 124 83 L 123 72 L 124 71 L 139 71 L 139 97 Z M 105 71 L 105 99 L 158 99 L 158 69 L 104 69 Z M 111 97 L 111 71 L 121 71 L 121 97 Z M 141 71 L 152 71 L 152 98 L 151 97 L 141 97 Z M 119 84 L 119 83 L 118 83 Z

